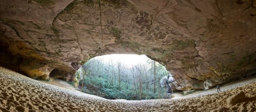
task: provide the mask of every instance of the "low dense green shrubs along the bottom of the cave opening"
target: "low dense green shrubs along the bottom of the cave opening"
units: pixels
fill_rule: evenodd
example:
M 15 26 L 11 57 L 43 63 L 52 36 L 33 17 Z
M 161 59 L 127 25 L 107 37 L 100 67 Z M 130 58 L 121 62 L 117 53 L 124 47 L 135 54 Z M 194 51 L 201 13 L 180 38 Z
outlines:
M 118 83 L 110 85 L 110 83 L 102 77 L 86 77 L 84 81 L 87 93 L 94 94 L 106 99 L 127 99 L 127 100 L 139 100 L 139 96 L 135 94 L 135 91 L 130 87 L 127 89 L 125 84 L 122 83 L 121 88 L 118 87 Z M 131 86 L 131 85 L 129 85 Z M 94 92 L 97 91 L 97 92 Z M 149 94 L 148 94 L 149 93 Z M 156 94 L 153 92 L 144 92 L 143 99 L 155 99 Z

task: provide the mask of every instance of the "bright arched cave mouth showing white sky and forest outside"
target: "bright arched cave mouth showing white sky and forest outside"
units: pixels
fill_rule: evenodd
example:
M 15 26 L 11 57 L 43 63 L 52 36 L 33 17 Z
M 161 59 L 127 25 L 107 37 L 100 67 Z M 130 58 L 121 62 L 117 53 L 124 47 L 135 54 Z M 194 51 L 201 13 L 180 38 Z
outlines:
M 166 82 L 170 72 L 146 55 L 97 56 L 79 68 L 76 76 L 82 92 L 106 99 L 171 98 L 172 89 Z

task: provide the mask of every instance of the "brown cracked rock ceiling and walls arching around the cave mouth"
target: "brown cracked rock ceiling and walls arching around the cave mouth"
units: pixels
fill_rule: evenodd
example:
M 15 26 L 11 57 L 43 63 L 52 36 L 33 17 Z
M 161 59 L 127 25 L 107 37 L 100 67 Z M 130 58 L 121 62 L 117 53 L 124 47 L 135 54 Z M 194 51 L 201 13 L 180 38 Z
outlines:
M 19 58 L 13 67 L 33 59 L 44 64 L 38 71 L 47 66 L 43 74 L 54 68 L 74 73 L 95 56 L 145 54 L 166 65 L 180 90 L 211 88 L 256 69 L 255 1 L 101 0 L 100 7 L 93 0 L 0 4 L 0 41 L 6 45 L 0 52 Z M 5 58 L 1 62 L 6 63 Z M 42 73 L 30 71 L 29 76 Z

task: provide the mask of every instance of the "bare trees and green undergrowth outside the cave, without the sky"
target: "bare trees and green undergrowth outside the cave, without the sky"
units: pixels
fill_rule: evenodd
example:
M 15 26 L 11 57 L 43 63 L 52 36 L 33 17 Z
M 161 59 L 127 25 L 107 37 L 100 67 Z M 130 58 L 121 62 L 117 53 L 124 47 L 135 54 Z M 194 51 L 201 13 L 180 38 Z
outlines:
M 163 65 L 156 64 L 156 93 L 154 93 L 153 62 L 148 61 L 145 64 L 132 66 L 134 68 L 132 73 L 131 67 L 124 66 L 120 62 L 104 62 L 93 58 L 87 61 L 78 71 L 81 75 L 79 86 L 82 87 L 83 84 L 81 89 L 85 93 L 106 99 L 161 99 L 164 98 L 166 93 L 165 89 L 159 86 L 159 81 L 169 72 Z M 84 80 L 82 82 L 83 74 Z

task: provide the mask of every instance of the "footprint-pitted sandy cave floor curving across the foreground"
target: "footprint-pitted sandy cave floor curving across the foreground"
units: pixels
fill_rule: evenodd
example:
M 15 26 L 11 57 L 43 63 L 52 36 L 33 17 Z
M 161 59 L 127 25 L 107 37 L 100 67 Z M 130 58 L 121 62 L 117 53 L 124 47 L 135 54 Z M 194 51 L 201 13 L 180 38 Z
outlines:
M 238 82 L 223 85 L 221 93 L 212 89 L 176 99 L 107 100 L 0 67 L 0 111 L 256 111 L 255 78 Z M 239 91 L 247 98 L 227 107 L 226 99 Z

